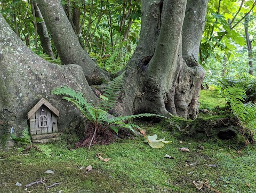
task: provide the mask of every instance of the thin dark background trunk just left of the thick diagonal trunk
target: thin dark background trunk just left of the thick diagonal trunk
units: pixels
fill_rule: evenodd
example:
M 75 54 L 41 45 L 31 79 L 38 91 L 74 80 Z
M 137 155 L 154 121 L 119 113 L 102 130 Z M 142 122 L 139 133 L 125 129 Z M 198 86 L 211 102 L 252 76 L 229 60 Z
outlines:
M 37 18 L 41 18 L 43 20 L 42 14 L 39 10 L 39 7 L 37 6 L 37 3 L 34 2 L 34 9 L 35 9 L 35 14 Z M 54 59 L 54 54 L 52 51 L 52 45 L 51 45 L 51 40 L 48 34 L 48 30 L 46 28 L 44 20 L 42 22 L 37 22 L 37 33 L 40 38 L 41 45 L 43 47 L 43 52 L 49 55 L 51 59 Z

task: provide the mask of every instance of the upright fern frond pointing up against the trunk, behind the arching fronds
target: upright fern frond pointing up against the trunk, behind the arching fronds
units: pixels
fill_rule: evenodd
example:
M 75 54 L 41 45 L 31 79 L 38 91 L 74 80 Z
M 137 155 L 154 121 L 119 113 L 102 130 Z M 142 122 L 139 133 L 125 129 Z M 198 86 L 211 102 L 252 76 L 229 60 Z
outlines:
M 110 110 L 113 108 L 119 97 L 118 92 L 121 90 L 124 81 L 124 73 L 113 79 L 113 81 L 107 85 L 104 89 L 103 94 L 108 100 L 103 100 L 100 107 L 102 110 Z

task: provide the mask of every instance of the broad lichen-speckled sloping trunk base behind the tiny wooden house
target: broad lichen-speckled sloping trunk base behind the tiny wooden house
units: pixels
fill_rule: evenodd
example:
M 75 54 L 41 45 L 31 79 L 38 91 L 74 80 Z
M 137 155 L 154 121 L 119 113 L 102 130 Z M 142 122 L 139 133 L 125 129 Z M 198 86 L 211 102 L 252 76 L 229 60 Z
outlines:
M 51 94 L 55 87 L 67 85 L 84 92 L 88 100 L 98 101 L 80 66 L 59 66 L 41 59 L 22 43 L 1 14 L 0 69 L 0 122 L 7 124 L 4 131 L 1 128 L 1 140 L 3 133 L 10 135 L 11 127 L 20 133 L 27 126 L 28 111 L 43 97 L 60 111 L 59 128 L 67 128 L 81 116 L 68 102 Z

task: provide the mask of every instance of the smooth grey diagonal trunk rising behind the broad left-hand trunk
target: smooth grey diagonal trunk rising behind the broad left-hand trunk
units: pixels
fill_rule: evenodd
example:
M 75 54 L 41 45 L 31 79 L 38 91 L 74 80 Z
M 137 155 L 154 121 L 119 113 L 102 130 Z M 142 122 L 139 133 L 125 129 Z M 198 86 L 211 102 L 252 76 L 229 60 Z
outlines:
M 37 4 L 52 35 L 61 63 L 81 66 L 90 85 L 100 84 L 104 79 L 108 80 L 106 71 L 100 69 L 79 44 L 61 1 L 38 1 Z

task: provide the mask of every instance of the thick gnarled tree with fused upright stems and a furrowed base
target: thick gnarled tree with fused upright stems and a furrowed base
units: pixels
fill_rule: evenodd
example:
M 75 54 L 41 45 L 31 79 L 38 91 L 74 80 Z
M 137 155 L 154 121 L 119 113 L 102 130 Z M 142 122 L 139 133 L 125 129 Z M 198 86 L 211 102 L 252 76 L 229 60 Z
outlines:
M 140 42 L 126 68 L 119 110 L 197 117 L 204 69 L 196 60 L 207 3 L 142 1 Z

